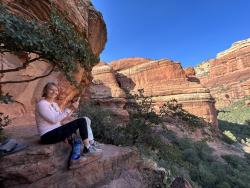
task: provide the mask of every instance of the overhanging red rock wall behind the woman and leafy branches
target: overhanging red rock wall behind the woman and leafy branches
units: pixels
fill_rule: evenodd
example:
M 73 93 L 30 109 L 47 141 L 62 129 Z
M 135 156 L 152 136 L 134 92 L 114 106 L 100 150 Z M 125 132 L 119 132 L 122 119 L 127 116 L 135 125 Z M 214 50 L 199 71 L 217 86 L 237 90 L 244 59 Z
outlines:
M 67 13 L 66 19 L 72 23 L 77 32 L 89 42 L 96 56 L 99 56 L 105 46 L 107 40 L 106 25 L 101 13 L 95 10 L 89 0 L 2 0 L 1 2 L 6 4 L 6 7 L 12 13 L 26 19 L 37 19 L 38 21 L 48 19 L 51 11 L 51 2 L 53 2 L 53 6 L 59 10 L 59 13 Z M 0 65 L 4 69 L 15 68 L 21 66 L 25 58 L 25 54 L 18 56 L 7 53 L 0 54 Z M 36 61 L 30 64 L 25 70 L 6 73 L 4 77 L 1 78 L 1 81 L 30 79 L 47 74 L 50 69 L 51 65 L 47 62 Z M 84 88 L 86 88 L 92 80 L 90 71 L 86 71 L 80 67 L 74 73 L 74 77 Z M 59 103 L 62 107 L 78 94 L 76 88 L 71 86 L 60 72 L 53 72 L 48 77 L 32 82 L 2 85 L 3 92 L 8 92 L 12 95 L 16 102 L 8 105 L 0 104 L 0 111 L 10 115 L 12 118 L 25 114 L 33 114 L 34 104 L 40 99 L 42 89 L 49 81 L 56 82 L 59 85 Z

